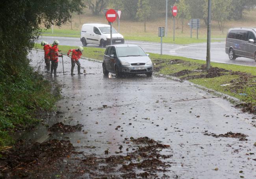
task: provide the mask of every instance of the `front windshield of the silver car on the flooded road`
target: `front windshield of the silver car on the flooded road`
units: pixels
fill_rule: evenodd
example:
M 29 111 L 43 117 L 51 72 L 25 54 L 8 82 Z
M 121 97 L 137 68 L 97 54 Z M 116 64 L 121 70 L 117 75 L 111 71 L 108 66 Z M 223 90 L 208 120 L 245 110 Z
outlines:
M 119 57 L 147 56 L 139 46 L 117 47 L 117 54 Z

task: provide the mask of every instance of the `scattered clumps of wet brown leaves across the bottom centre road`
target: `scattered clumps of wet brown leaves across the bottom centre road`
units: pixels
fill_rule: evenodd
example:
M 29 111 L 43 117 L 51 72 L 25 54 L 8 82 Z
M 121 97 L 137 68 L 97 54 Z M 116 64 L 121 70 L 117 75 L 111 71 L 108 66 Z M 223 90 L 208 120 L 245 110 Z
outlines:
M 77 173 L 89 178 L 170 177 L 165 175 L 165 172 L 171 170 L 170 159 L 173 156 L 169 145 L 161 144 L 148 137 L 126 138 L 124 144 L 129 144 L 128 151 L 131 151 L 126 155 L 111 155 L 109 157 L 85 155 L 81 164 L 78 165 Z M 168 155 L 162 154 L 163 151 Z M 109 153 L 105 151 L 105 154 Z

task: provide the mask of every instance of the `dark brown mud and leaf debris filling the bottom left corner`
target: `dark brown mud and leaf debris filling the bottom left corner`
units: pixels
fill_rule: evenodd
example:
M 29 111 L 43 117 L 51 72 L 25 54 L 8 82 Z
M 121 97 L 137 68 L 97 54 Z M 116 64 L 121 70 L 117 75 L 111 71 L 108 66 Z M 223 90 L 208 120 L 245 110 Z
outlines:
M 1 172 L 4 177 L 27 177 L 37 173 L 54 173 L 55 164 L 74 150 L 69 141 L 52 139 L 43 143 L 19 141 L 0 154 Z M 47 177 L 46 177 L 47 178 Z

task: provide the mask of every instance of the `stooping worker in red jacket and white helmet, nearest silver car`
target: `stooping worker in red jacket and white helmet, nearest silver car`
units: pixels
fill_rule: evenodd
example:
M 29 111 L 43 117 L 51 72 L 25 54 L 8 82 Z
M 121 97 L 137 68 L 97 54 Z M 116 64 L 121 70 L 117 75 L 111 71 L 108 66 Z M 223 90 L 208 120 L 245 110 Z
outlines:
M 75 75 L 74 74 L 74 67 L 75 65 L 77 65 L 77 71 L 78 71 L 78 74 L 83 74 L 80 72 L 80 62 L 79 62 L 79 59 L 81 58 L 82 56 L 82 52 L 83 52 L 83 47 L 80 46 L 78 47 L 77 49 L 70 49 L 69 52 L 68 52 L 68 57 L 70 52 L 72 52 L 72 55 L 71 55 L 71 75 Z

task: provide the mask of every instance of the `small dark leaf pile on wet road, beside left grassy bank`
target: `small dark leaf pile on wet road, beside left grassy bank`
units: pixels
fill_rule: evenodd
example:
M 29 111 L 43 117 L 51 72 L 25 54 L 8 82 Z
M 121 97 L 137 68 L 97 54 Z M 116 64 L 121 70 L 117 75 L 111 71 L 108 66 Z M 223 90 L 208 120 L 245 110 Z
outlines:
M 69 132 L 76 132 L 76 131 L 81 131 L 83 125 L 77 124 L 77 125 L 65 125 L 62 122 L 58 122 L 52 127 L 48 129 L 48 131 L 51 132 L 59 132 L 59 133 L 69 133 Z

